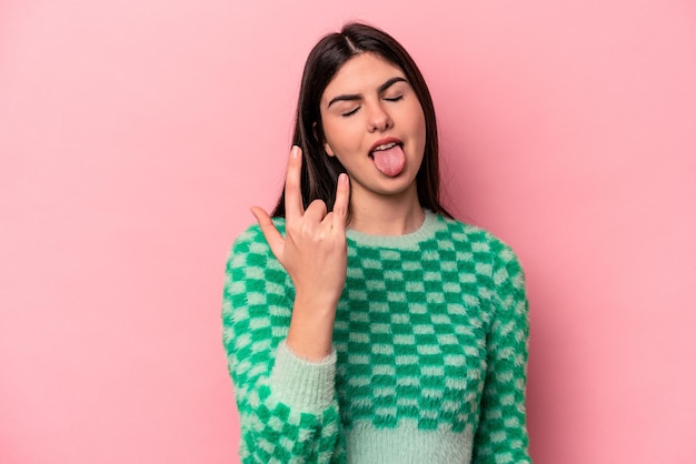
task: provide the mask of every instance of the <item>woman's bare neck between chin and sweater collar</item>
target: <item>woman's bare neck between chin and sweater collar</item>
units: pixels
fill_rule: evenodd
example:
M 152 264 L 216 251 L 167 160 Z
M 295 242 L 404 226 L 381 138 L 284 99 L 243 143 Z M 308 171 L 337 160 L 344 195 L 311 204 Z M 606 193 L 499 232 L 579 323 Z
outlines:
M 357 192 L 354 192 L 357 193 Z M 425 212 L 418 193 L 409 189 L 396 195 L 351 195 L 351 216 L 348 228 L 370 235 L 405 235 L 418 230 Z

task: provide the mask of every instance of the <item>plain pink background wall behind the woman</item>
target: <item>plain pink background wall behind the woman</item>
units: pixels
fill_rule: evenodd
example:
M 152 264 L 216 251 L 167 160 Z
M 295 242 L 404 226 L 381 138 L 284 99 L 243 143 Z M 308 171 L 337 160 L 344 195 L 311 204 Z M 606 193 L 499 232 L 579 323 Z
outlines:
M 237 461 L 225 259 L 355 18 L 429 82 L 447 204 L 525 264 L 535 463 L 696 462 L 696 4 L 349 3 L 0 3 L 0 462 Z

